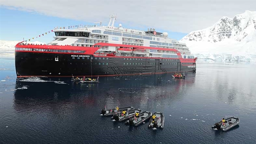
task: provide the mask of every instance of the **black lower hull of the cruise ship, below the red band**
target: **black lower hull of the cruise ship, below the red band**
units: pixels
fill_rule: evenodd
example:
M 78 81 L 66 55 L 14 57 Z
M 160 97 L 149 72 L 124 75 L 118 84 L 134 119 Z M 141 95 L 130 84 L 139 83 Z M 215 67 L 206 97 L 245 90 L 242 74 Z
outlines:
M 118 57 L 15 52 L 17 77 L 112 76 L 195 72 L 196 63 L 178 58 Z

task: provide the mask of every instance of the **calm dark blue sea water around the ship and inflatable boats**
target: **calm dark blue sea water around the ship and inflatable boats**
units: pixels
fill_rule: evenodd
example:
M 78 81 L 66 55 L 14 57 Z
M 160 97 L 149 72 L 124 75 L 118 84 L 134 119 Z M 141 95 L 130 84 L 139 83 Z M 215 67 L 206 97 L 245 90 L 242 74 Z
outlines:
M 256 143 L 256 64 L 198 63 L 186 79 L 171 74 L 100 77 L 99 84 L 70 78 L 16 79 L 14 60 L 0 60 L 0 143 Z M 104 107 L 163 112 L 163 130 L 148 122 L 130 127 L 100 115 Z M 211 126 L 237 116 L 227 131 Z

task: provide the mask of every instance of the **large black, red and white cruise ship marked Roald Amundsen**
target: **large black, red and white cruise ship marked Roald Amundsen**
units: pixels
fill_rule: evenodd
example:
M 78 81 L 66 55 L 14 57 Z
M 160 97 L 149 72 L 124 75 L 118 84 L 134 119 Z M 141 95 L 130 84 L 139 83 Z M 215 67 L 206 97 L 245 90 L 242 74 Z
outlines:
M 72 29 L 55 28 L 45 45 L 15 46 L 17 78 L 140 75 L 195 72 L 196 59 L 185 43 L 155 29 L 140 31 L 95 23 Z M 65 28 L 65 27 L 64 27 Z

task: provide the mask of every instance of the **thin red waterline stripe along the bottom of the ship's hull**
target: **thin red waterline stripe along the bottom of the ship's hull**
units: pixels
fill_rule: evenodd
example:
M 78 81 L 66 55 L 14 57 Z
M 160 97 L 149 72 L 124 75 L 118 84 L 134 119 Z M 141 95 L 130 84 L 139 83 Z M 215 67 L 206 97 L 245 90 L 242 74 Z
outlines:
M 194 71 L 182 71 L 182 72 L 194 72 Z M 125 76 L 125 75 L 151 75 L 151 74 L 163 74 L 163 73 L 175 73 L 175 72 L 152 72 L 143 74 L 124 74 L 124 75 L 92 75 L 93 77 L 105 77 L 105 76 Z M 73 75 L 74 77 L 91 77 L 91 75 Z M 27 77 L 70 77 L 72 76 L 54 76 L 54 75 L 30 75 L 30 76 L 17 76 L 17 78 L 27 78 Z

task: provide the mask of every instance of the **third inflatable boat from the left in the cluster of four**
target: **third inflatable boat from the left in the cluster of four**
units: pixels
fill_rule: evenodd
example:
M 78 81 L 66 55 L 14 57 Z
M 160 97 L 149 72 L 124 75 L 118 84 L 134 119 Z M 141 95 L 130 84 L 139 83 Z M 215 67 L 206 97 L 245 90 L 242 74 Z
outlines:
M 152 112 L 148 112 L 148 111 L 142 112 L 140 113 L 139 118 L 136 118 L 135 116 L 131 117 L 129 118 L 128 121 L 125 122 L 125 124 L 130 124 L 137 127 L 141 123 L 147 121 L 151 117 L 151 115 L 152 115 Z

